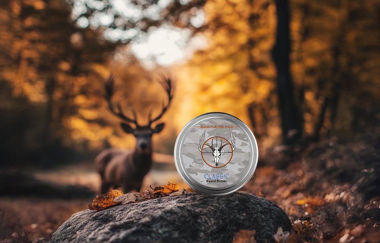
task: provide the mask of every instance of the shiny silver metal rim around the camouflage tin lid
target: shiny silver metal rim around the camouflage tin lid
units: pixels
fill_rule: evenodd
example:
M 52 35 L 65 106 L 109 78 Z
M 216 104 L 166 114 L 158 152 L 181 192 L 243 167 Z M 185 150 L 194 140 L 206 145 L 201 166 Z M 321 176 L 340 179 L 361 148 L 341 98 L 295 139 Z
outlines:
M 237 124 L 247 135 L 248 139 L 250 140 L 251 144 L 251 149 L 252 149 L 252 158 L 250 161 L 250 166 L 247 169 L 246 174 L 238 180 L 236 183 L 233 185 L 227 187 L 227 188 L 221 188 L 221 189 L 213 189 L 213 188 L 206 188 L 203 185 L 201 185 L 199 182 L 195 181 L 193 178 L 189 177 L 185 170 L 182 167 L 181 163 L 181 146 L 183 144 L 183 139 L 185 138 L 185 135 L 187 134 L 187 131 L 193 127 L 195 124 L 198 122 L 205 120 L 205 119 L 212 119 L 212 118 L 221 118 L 225 120 L 230 120 L 231 122 Z M 212 195 L 212 196 L 223 196 L 230 194 L 234 191 L 237 191 L 241 187 L 243 187 L 252 177 L 253 173 L 256 170 L 257 166 L 257 160 L 258 160 L 258 148 L 257 148 L 257 142 L 256 138 L 253 135 L 251 129 L 239 118 L 227 114 L 227 113 L 221 113 L 221 112 L 211 112 L 211 113 L 206 113 L 203 115 L 200 115 L 193 120 L 189 121 L 179 132 L 177 140 L 175 141 L 175 146 L 174 146 L 174 161 L 175 161 L 175 166 L 177 168 L 177 171 L 181 178 L 183 179 L 186 184 L 191 186 L 193 189 L 205 193 L 207 195 Z

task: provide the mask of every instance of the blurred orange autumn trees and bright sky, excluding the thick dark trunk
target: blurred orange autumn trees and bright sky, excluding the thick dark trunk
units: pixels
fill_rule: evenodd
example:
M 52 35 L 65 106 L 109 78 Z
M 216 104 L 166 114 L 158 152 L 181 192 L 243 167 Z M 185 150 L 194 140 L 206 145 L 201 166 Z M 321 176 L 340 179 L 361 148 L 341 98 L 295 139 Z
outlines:
M 93 158 L 109 146 L 132 148 L 133 136 L 123 134 L 103 99 L 110 73 L 117 75 L 124 107 L 139 110 L 142 122 L 149 107 L 162 104 L 158 74 L 177 81 L 168 124 L 154 138 L 158 152 L 172 154 L 182 126 L 213 111 L 249 124 L 262 155 L 283 142 L 272 58 L 274 1 L 0 5 L 3 166 L 47 166 Z M 379 8 L 376 0 L 289 2 L 298 142 L 347 139 L 378 124 Z

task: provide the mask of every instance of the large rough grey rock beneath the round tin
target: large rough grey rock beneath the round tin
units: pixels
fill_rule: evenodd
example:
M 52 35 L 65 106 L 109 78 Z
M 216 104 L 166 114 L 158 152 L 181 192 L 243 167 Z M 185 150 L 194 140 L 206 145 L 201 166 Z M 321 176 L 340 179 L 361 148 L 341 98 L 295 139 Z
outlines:
M 274 242 L 279 227 L 291 229 L 285 212 L 245 192 L 212 197 L 198 192 L 72 215 L 51 242 L 232 242 L 241 229 L 257 242 Z

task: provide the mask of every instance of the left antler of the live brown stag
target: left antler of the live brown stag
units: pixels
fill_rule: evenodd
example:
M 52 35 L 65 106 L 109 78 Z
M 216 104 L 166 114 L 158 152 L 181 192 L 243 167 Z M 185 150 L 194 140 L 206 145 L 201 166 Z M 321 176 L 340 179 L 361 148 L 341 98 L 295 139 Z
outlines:
M 127 121 L 127 122 L 132 122 L 134 123 L 136 126 L 138 126 L 137 124 L 137 119 L 136 119 L 136 112 L 135 110 L 132 110 L 132 114 L 133 114 L 133 119 L 127 117 L 123 110 L 122 110 L 122 106 L 120 104 L 120 101 L 118 101 L 117 103 L 117 106 L 118 106 L 118 111 L 115 109 L 115 107 L 113 106 L 112 102 L 111 102 L 111 99 L 112 99 L 112 95 L 115 93 L 115 76 L 113 75 L 110 75 L 106 80 L 105 80 L 105 83 L 104 83 L 104 89 L 105 89 L 105 99 L 108 103 L 108 108 L 109 110 L 117 115 L 118 117 L 120 117 L 121 119 Z

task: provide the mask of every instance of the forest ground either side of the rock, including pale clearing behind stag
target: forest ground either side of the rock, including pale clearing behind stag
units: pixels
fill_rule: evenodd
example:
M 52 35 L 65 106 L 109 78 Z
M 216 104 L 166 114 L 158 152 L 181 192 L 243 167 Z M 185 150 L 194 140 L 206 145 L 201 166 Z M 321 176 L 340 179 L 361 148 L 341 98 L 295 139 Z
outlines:
M 291 154 L 286 150 L 273 152 L 260 161 L 252 179 L 241 190 L 273 201 L 292 221 L 301 219 L 313 224 L 316 230 L 303 235 L 308 241 L 380 242 L 379 138 L 365 134 L 349 143 L 331 138 Z M 54 183 L 80 184 L 96 190 L 99 186 L 99 177 L 90 163 L 33 173 L 38 179 Z M 144 179 L 142 189 L 167 181 L 180 183 L 180 188 L 188 187 L 173 163 L 157 163 Z M 92 197 L 2 196 L 0 240 L 47 241 L 66 219 L 87 209 L 91 201 Z

